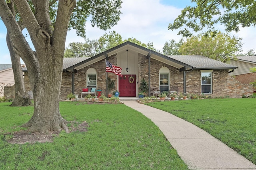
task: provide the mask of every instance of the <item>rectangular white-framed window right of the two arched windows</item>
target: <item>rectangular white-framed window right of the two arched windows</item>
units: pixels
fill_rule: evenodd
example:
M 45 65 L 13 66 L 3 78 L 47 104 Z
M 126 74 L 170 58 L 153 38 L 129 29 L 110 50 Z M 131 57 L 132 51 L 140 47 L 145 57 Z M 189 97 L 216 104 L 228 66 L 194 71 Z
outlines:
M 201 70 L 201 87 L 202 93 L 212 93 L 212 72 L 209 70 Z

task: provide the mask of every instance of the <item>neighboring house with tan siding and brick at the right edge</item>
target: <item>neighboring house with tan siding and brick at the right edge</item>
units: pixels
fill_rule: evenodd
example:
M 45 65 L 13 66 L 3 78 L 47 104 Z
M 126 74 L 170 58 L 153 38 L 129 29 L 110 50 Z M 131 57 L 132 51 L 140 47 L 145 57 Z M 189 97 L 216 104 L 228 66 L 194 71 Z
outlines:
M 225 63 L 238 67 L 234 72 L 230 72 L 229 75 L 241 83 L 249 84 L 256 80 L 256 72 L 251 72 L 250 70 L 250 68 L 256 67 L 256 56 L 237 56 L 236 58 L 230 58 Z M 256 88 L 254 88 L 254 92 L 256 92 Z

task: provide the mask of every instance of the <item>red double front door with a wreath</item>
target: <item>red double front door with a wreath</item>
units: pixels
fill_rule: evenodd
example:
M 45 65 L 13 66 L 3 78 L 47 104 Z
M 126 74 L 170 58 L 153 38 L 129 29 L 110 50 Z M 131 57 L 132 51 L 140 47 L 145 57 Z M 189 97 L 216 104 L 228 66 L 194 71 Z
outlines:
M 119 77 L 120 97 L 136 97 L 136 75 L 122 75 Z

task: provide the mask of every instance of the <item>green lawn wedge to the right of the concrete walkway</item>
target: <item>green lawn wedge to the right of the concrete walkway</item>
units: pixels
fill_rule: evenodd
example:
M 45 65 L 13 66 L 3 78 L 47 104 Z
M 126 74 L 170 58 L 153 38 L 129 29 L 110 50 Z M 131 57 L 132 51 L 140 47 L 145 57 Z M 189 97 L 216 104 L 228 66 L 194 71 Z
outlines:
M 256 164 L 255 98 L 179 100 L 147 105 L 193 123 Z

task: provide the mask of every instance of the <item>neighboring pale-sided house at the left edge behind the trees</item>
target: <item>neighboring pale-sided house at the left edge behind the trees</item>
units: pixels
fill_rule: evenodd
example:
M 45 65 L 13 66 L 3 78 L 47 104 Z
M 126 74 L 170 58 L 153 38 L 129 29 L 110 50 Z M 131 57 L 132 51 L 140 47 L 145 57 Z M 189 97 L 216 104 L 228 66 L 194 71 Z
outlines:
M 24 64 L 21 65 L 25 67 Z M 0 64 L 0 97 L 4 96 L 4 86 L 14 85 L 12 64 Z

